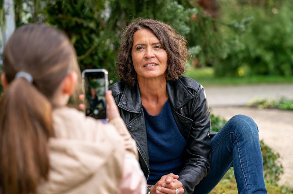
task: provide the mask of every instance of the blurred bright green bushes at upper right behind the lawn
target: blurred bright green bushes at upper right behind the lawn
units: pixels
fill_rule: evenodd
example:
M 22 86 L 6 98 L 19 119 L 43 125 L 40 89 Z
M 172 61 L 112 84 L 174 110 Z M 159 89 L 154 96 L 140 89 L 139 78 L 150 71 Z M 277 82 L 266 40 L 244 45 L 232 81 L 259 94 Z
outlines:
M 255 5 L 226 0 L 221 7 L 222 21 L 235 18 L 233 23 L 237 28 L 221 28 L 226 56 L 215 65 L 217 75 L 293 75 L 291 1 Z

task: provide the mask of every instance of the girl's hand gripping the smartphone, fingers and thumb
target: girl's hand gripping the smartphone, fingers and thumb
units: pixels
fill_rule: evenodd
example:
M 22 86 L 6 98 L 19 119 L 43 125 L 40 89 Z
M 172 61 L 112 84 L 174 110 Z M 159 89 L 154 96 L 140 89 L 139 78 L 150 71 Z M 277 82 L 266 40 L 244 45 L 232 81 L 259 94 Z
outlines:
M 83 101 L 85 99 L 85 95 L 83 95 L 83 94 L 79 95 L 79 99 L 81 101 Z M 107 102 L 107 117 L 109 118 L 109 120 L 112 120 L 114 118 L 120 118 L 118 107 L 117 107 L 115 100 L 112 96 L 111 90 L 108 90 L 106 92 L 106 102 Z M 79 108 L 81 110 L 85 110 L 85 105 L 79 104 Z

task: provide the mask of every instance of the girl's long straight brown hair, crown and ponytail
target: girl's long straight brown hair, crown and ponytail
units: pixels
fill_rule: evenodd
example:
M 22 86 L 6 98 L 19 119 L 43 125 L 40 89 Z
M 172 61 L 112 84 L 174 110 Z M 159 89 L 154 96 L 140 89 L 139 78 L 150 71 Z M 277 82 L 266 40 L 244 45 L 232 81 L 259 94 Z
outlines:
M 10 37 L 3 64 L 9 86 L 0 100 L 0 193 L 35 193 L 49 173 L 50 101 L 68 73 L 78 71 L 76 54 L 59 30 L 27 24 Z M 33 83 L 14 79 L 20 71 Z

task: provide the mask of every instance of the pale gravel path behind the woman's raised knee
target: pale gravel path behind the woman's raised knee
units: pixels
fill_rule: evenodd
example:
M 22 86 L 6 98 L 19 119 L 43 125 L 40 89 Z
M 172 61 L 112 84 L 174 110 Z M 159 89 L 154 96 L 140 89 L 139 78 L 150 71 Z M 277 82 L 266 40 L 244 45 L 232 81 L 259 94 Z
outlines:
M 293 111 L 255 109 L 246 105 L 254 98 L 293 98 L 293 84 L 260 84 L 233 87 L 205 87 L 211 112 L 229 120 L 236 114 L 254 119 L 259 127 L 259 138 L 281 156 L 284 174 L 280 185 L 293 188 Z

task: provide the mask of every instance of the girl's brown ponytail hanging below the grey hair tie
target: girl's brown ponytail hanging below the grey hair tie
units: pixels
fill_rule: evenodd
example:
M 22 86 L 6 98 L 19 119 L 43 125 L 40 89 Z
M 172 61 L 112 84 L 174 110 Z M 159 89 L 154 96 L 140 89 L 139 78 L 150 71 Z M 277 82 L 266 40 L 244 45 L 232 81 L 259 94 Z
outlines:
M 49 100 L 23 78 L 0 100 L 0 193 L 35 193 L 48 179 L 48 139 L 54 136 Z

